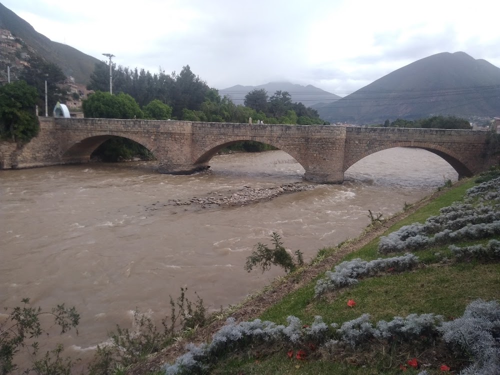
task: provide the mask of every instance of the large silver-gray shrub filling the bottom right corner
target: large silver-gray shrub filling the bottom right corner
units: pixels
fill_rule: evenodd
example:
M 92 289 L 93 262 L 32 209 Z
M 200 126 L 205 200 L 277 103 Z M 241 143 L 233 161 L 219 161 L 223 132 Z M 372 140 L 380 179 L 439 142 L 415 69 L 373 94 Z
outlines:
M 460 375 L 500 373 L 500 304 L 497 301 L 476 299 L 461 317 L 442 323 L 438 329 L 444 341 L 474 358 Z

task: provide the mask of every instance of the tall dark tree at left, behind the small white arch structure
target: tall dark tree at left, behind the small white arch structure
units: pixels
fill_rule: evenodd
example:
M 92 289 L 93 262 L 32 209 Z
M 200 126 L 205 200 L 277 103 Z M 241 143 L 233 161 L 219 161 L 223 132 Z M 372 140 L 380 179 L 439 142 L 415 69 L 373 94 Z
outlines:
M 45 105 L 45 80 L 47 81 L 47 106 L 51 112 L 57 101 L 66 101 L 68 91 L 64 87 L 66 76 L 59 66 L 39 56 L 31 57 L 28 62 L 29 66 L 24 68 L 19 78 L 37 89 L 37 104 L 40 107 Z

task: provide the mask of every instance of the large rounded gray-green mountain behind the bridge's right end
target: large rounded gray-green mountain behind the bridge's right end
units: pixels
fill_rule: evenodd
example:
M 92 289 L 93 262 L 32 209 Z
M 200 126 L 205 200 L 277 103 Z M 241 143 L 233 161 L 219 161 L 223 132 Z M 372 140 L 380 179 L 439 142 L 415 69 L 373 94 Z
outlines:
M 500 115 L 500 68 L 465 52 L 437 53 L 384 75 L 340 100 L 316 105 L 330 122 L 381 123 L 433 114 Z

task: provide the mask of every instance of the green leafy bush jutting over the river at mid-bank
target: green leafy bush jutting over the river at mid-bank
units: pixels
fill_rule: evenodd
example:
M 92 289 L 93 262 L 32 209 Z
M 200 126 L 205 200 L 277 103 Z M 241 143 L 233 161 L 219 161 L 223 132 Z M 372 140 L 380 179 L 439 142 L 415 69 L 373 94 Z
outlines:
M 293 271 L 297 266 L 303 265 L 303 257 L 300 250 L 296 250 L 294 256 L 290 255 L 283 247 L 281 237 L 278 233 L 272 232 L 272 243 L 274 248 L 268 248 L 267 245 L 258 242 L 257 249 L 246 257 L 245 270 L 250 272 L 257 264 L 262 269 L 262 273 L 268 270 L 272 265 L 279 265 L 285 272 Z

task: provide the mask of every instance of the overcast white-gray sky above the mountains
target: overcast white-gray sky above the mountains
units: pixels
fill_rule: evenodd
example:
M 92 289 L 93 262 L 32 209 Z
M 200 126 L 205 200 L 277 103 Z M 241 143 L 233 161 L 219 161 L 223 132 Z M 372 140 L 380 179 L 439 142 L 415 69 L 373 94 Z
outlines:
M 52 40 L 208 85 L 312 84 L 344 96 L 419 58 L 500 66 L 494 0 L 0 0 Z

